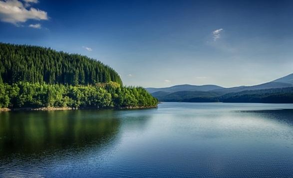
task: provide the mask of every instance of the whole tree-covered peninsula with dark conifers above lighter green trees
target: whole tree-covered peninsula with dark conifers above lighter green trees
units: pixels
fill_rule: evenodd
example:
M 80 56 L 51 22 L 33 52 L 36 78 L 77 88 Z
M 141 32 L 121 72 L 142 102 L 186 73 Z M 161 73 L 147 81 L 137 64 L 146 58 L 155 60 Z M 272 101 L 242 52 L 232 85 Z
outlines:
M 0 43 L 0 110 L 150 108 L 158 100 L 123 86 L 100 61 L 50 48 Z

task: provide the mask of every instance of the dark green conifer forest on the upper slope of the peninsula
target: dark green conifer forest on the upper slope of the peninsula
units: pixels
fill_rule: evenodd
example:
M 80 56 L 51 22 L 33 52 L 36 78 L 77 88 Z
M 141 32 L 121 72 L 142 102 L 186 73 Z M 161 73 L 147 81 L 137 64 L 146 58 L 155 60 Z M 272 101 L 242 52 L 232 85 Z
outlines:
M 100 61 L 50 48 L 0 43 L 0 83 L 87 85 L 122 81 Z

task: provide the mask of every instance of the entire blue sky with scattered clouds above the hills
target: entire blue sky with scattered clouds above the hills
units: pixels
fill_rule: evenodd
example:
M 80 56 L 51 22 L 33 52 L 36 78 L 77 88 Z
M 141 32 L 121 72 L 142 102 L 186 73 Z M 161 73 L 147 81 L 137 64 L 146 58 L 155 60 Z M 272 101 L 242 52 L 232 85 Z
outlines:
M 292 0 L 0 0 L 0 41 L 96 58 L 126 85 L 254 85 L 293 73 Z

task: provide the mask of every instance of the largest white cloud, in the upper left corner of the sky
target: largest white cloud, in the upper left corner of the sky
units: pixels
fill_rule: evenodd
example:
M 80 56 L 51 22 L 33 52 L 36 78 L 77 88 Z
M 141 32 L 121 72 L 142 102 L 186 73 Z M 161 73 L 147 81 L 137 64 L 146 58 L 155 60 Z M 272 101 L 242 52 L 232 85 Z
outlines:
M 20 26 L 19 23 L 26 22 L 29 19 L 47 20 L 47 12 L 33 7 L 27 8 L 29 2 L 36 3 L 37 0 L 25 0 L 23 4 L 19 0 L 0 0 L 0 21 L 12 23 Z

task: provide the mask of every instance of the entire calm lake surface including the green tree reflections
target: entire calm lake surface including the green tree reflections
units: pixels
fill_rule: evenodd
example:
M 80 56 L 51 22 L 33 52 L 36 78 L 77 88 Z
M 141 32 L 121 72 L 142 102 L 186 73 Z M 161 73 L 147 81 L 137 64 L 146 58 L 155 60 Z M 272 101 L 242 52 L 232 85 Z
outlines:
M 293 104 L 2 112 L 0 177 L 293 177 Z

